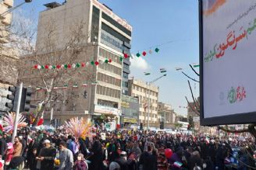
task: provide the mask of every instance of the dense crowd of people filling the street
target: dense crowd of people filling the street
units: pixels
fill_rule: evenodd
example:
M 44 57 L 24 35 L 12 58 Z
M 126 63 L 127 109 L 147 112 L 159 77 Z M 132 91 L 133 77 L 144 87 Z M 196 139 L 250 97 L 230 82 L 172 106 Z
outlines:
M 13 144 L 9 134 L 0 134 L 0 149 L 6 170 L 255 169 L 253 138 L 240 141 L 204 134 L 96 130 L 89 137 L 75 138 L 63 130 L 23 130 Z

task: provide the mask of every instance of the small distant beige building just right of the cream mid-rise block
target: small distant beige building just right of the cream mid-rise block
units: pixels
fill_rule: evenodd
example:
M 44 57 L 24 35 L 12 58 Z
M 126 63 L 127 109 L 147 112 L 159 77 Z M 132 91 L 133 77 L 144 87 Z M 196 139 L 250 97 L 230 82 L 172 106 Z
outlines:
M 163 123 L 164 128 L 174 128 L 176 122 L 176 113 L 172 106 L 163 102 L 158 102 L 158 120 Z

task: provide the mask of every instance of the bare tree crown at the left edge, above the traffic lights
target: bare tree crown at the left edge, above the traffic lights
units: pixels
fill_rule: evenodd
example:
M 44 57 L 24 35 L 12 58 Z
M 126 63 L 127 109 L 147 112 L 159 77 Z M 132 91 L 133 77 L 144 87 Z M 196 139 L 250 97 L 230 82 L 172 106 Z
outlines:
M 0 82 L 16 85 L 17 61 L 21 54 L 34 50 L 36 29 L 34 19 L 23 16 L 22 11 L 12 15 L 12 22 L 0 23 Z

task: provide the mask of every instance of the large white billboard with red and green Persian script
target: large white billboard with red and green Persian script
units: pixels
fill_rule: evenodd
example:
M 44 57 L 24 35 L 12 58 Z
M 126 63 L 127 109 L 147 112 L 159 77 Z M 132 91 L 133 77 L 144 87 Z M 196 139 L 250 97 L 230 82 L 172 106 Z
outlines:
M 201 125 L 256 123 L 256 0 L 199 0 Z

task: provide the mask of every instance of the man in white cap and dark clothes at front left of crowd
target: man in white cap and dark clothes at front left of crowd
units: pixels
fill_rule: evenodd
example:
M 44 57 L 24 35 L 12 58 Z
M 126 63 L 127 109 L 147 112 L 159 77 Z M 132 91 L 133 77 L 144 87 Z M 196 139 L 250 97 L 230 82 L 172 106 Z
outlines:
M 54 170 L 54 159 L 56 156 L 56 150 L 51 146 L 51 142 L 47 139 L 43 142 L 44 147 L 36 158 L 40 161 L 40 170 Z

